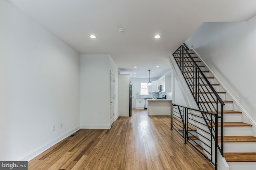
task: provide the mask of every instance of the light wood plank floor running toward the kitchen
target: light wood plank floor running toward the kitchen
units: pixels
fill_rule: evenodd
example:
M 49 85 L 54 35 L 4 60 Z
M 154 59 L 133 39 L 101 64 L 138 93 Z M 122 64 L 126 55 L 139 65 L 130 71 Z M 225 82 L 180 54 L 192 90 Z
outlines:
M 80 129 L 28 162 L 29 170 L 213 170 L 174 130 L 170 116 L 133 110 L 111 129 Z

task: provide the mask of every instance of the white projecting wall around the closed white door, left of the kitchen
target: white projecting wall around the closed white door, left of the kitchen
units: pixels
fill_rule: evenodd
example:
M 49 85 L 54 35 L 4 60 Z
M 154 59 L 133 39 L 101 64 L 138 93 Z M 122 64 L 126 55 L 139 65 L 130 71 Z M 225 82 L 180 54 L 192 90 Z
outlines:
M 110 55 L 81 55 L 80 70 L 81 128 L 109 129 L 110 70 L 115 76 L 115 95 L 118 96 L 118 68 Z M 114 111 L 118 112 L 118 100 L 115 100 Z

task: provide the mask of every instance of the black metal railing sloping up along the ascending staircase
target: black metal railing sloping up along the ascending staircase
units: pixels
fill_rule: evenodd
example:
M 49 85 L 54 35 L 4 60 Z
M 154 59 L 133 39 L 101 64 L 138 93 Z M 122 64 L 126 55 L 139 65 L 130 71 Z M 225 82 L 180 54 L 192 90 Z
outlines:
M 211 126 L 218 127 L 218 122 L 213 121 L 210 114 L 216 114 L 220 119 L 220 146 L 218 149 L 223 156 L 223 106 L 225 105 L 213 85 L 210 84 L 200 66 L 196 64 L 193 57 L 189 53 L 189 49 L 184 43 L 174 53 L 173 57 L 178 64 L 182 75 L 192 93 L 198 108 L 201 111 L 203 121 L 208 126 L 212 134 L 217 134 L 216 129 Z M 220 113 L 220 116 L 218 115 Z M 213 137 L 214 138 L 214 137 Z M 216 142 L 218 143 L 218 142 Z

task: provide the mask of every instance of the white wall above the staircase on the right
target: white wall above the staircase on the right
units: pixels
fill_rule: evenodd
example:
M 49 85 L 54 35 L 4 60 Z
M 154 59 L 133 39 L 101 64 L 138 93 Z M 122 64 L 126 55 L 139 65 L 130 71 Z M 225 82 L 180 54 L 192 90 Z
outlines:
M 193 45 L 255 121 L 256 16 L 246 22 L 203 23 L 186 44 Z

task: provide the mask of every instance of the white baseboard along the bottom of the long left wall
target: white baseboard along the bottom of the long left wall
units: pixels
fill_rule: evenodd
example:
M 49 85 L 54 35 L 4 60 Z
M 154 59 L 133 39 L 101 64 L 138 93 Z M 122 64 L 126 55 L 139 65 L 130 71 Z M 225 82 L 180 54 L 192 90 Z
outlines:
M 50 147 L 52 147 L 53 145 L 59 143 L 60 141 L 62 141 L 63 139 L 65 139 L 66 137 L 70 136 L 71 134 L 73 134 L 74 132 L 78 131 L 80 129 L 80 126 L 78 125 L 77 127 L 75 127 L 74 129 L 68 131 L 67 133 L 61 135 L 60 137 L 58 137 L 57 139 L 50 141 L 44 145 L 42 145 L 41 147 L 38 147 L 37 149 L 33 150 L 32 152 L 29 152 L 28 154 L 20 157 L 17 159 L 17 161 L 19 160 L 27 160 L 30 161 L 32 160 L 34 157 L 38 156 L 39 154 L 41 154 L 42 152 L 44 152 L 45 150 L 49 149 Z

